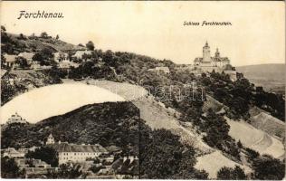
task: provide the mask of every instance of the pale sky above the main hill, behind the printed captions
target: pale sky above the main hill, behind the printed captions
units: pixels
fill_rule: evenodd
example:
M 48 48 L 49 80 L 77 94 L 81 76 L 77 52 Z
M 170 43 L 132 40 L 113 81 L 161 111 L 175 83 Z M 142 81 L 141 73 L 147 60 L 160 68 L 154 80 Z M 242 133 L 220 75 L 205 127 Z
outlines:
M 17 19 L 20 11 L 62 13 L 63 18 Z M 192 26 L 184 22 L 230 22 Z M 207 41 L 234 66 L 285 62 L 284 2 L 1 2 L 9 33 L 60 35 L 68 43 L 92 41 L 102 50 L 136 52 L 193 63 Z

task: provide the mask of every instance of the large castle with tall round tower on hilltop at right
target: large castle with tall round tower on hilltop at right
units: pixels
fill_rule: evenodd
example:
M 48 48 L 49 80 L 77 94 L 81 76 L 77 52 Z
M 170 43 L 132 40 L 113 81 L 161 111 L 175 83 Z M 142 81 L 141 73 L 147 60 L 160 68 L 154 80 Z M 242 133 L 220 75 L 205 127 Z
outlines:
M 195 58 L 194 67 L 195 70 L 203 72 L 234 71 L 234 68 L 230 64 L 230 60 L 227 57 L 221 57 L 218 48 L 216 49 L 215 56 L 211 56 L 210 46 L 207 42 L 203 47 L 203 57 Z

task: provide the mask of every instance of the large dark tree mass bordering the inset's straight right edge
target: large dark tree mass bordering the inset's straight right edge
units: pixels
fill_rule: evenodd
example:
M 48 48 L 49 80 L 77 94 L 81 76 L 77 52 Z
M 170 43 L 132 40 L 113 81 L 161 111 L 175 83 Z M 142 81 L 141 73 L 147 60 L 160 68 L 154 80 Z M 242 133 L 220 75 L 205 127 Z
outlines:
M 194 148 L 182 145 L 179 137 L 166 129 L 152 131 L 140 124 L 139 160 L 141 178 L 207 178 L 204 171 L 194 168 Z

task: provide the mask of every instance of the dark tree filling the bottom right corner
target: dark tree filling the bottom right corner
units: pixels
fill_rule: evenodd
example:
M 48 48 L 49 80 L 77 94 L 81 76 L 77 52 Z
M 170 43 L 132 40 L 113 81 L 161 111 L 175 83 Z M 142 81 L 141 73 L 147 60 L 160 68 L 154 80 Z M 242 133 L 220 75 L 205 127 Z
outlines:
M 260 180 L 281 180 L 285 176 L 285 163 L 268 155 L 253 160 L 253 177 Z

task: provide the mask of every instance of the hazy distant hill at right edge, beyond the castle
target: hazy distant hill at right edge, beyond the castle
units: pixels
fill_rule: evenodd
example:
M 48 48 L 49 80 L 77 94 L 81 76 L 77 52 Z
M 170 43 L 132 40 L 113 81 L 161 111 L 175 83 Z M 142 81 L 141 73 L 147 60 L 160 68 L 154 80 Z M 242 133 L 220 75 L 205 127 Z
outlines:
M 259 64 L 236 67 L 236 71 L 242 72 L 244 77 L 256 86 L 262 86 L 264 90 L 272 90 L 285 85 L 285 64 Z

